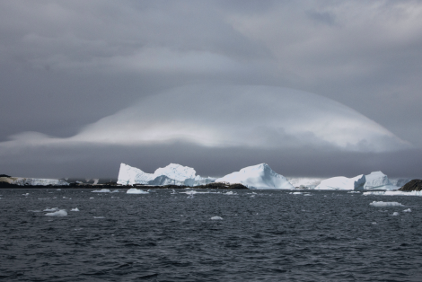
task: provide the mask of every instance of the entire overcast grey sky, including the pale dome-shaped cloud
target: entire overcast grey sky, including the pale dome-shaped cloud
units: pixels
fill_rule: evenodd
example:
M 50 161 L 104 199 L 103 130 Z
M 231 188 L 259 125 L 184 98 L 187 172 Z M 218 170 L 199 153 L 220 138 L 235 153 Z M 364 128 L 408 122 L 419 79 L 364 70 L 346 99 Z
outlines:
M 2 1 L 0 37 L 0 173 L 422 177 L 420 1 Z

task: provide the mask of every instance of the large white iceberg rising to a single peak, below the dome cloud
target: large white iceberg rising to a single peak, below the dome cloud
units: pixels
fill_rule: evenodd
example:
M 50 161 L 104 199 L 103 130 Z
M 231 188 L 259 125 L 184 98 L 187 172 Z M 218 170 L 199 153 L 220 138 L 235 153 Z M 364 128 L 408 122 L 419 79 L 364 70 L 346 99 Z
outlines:
M 241 183 L 250 189 L 295 189 L 286 177 L 271 170 L 267 163 L 245 167 L 215 182 Z

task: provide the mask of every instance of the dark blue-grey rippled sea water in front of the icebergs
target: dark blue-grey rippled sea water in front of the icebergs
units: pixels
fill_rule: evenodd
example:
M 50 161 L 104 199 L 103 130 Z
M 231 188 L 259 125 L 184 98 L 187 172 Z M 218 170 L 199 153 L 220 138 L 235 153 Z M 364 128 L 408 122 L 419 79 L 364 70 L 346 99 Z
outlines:
M 0 280 L 422 281 L 420 197 L 184 191 L 0 189 Z

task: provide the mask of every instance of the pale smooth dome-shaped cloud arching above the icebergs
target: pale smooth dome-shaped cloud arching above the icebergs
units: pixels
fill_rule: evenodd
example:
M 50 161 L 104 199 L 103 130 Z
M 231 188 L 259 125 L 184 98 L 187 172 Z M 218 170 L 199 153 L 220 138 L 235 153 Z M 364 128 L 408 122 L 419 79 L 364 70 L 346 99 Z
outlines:
M 345 105 L 313 93 L 255 85 L 194 85 L 147 97 L 68 141 L 189 142 L 211 147 L 333 146 L 382 152 L 409 144 Z

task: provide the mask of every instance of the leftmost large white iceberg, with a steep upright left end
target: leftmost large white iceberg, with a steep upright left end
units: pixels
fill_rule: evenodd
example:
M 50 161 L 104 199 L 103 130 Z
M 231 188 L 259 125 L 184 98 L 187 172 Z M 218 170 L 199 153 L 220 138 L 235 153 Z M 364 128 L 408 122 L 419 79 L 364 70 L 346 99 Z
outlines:
M 214 178 L 202 178 L 196 175 L 193 168 L 177 163 L 170 163 L 166 167 L 158 168 L 154 173 L 146 173 L 125 163 L 120 164 L 118 184 L 145 184 L 154 186 L 186 185 L 198 186 L 202 183 L 214 182 Z

